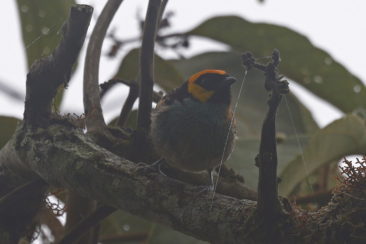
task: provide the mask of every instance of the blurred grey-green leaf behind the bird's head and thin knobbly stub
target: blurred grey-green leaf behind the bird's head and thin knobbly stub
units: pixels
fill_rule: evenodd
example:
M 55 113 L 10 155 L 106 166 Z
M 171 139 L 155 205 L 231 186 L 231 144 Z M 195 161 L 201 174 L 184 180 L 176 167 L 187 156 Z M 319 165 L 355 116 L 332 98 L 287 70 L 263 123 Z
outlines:
M 229 52 L 212 52 L 194 56 L 189 59 L 171 60 L 172 64 L 186 77 L 205 69 L 225 70 L 237 81 L 232 86 L 232 106 L 235 108 L 240 87 L 245 76 L 245 69 L 241 65 L 240 55 Z M 160 85 L 166 85 L 159 83 Z M 170 83 L 171 84 L 171 83 Z M 176 83 L 178 87 L 182 83 Z M 268 110 L 268 92 L 264 89 L 264 76 L 258 70 L 250 70 L 244 81 L 243 89 L 235 111 L 236 128 L 239 138 L 260 138 L 262 122 Z M 291 84 L 290 84 L 291 89 Z M 313 133 L 318 129 L 309 110 L 307 110 L 294 96 L 286 95 L 292 119 L 298 133 Z M 277 131 L 294 134 L 291 118 L 285 101 L 277 112 Z

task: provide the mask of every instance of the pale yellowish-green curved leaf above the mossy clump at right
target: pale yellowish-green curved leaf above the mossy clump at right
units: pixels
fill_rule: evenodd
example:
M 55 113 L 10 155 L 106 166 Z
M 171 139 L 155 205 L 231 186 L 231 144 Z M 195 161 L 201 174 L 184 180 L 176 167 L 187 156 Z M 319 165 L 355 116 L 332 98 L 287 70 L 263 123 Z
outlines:
M 343 156 L 353 154 L 366 154 L 365 121 L 355 115 L 347 115 L 319 130 L 303 150 L 310 175 L 323 165 L 338 162 Z M 287 165 L 280 178 L 280 194 L 284 196 L 290 195 L 307 178 L 301 155 Z

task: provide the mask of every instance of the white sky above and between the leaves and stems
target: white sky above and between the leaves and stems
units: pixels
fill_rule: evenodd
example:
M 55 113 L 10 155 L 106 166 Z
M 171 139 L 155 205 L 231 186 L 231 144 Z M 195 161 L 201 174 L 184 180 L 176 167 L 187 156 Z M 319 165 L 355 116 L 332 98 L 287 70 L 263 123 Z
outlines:
M 90 4 L 94 7 L 94 15 L 88 36 L 93 30 L 96 18 L 104 7 L 106 0 L 77 0 L 77 3 Z M 110 27 L 118 28 L 116 35 L 121 38 L 136 37 L 139 34 L 136 20 L 137 9 L 145 16 L 147 0 L 124 0 L 117 11 Z M 2 14 L 0 16 L 0 80 L 6 81 L 19 92 L 25 94 L 25 79 L 27 73 L 26 58 L 20 33 L 20 23 L 15 1 L 0 1 Z M 286 26 L 305 35 L 317 47 L 328 52 L 337 62 L 340 62 L 351 73 L 366 82 L 365 54 L 365 23 L 366 1 L 361 0 L 169 0 L 166 11 L 173 11 L 171 32 L 182 32 L 202 23 L 215 15 L 238 15 L 251 22 L 266 22 Z M 276 14 L 272 14 L 275 12 Z M 47 14 L 47 13 L 46 13 Z M 55 23 L 59 21 L 55 19 Z M 6 34 L 4 34 L 6 33 Z M 203 43 L 205 45 L 203 46 Z M 105 54 L 111 42 L 106 41 L 102 55 Z M 204 40 L 191 43 L 191 49 L 185 52 L 186 57 L 207 50 L 226 50 L 225 45 L 207 44 Z M 70 87 L 64 93 L 64 103 L 61 113 L 81 114 L 82 108 L 82 60 L 85 56 L 84 45 L 79 67 L 73 74 Z M 127 53 L 126 49 L 119 52 L 119 57 Z M 159 51 L 159 50 L 157 50 Z M 182 50 L 184 51 L 184 50 Z M 246 51 L 246 50 L 243 50 Z M 250 51 L 250 50 L 249 50 Z M 160 53 L 160 52 L 159 52 Z M 172 53 L 167 53 L 173 57 Z M 100 64 L 100 83 L 111 78 L 119 61 L 111 61 L 103 57 Z M 311 110 L 320 126 L 325 126 L 342 113 L 332 105 L 304 91 L 299 85 L 290 83 L 291 90 Z M 119 114 L 124 102 L 121 92 L 127 92 L 120 85 L 119 89 L 110 92 L 103 101 L 103 109 L 107 122 Z M 23 102 L 14 102 L 0 91 L 0 115 L 23 117 Z M 240 106 L 240 104 L 238 105 Z

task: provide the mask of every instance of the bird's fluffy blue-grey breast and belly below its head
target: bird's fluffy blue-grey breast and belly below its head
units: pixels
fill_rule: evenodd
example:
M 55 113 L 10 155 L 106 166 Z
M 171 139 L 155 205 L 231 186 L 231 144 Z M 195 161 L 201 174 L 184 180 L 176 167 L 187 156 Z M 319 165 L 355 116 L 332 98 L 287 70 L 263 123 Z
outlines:
M 169 165 L 201 172 L 228 159 L 235 144 L 233 128 L 229 133 L 231 120 L 204 113 L 197 117 L 182 110 L 168 115 L 152 117 L 151 134 L 155 149 Z

